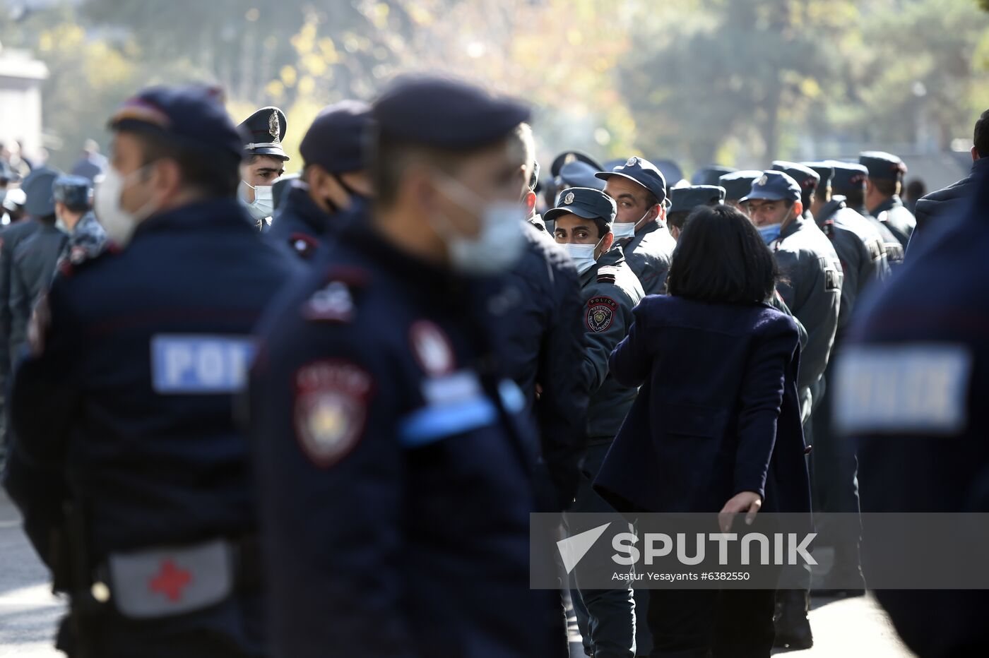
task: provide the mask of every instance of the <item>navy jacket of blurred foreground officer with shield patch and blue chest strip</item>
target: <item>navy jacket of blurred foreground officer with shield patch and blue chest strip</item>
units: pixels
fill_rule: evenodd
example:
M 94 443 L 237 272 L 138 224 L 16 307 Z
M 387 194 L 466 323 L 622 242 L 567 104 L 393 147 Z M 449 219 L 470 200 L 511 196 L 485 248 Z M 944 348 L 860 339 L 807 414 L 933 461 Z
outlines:
M 251 377 L 275 656 L 566 655 L 529 589 L 535 436 L 510 312 L 354 222 L 270 309 Z

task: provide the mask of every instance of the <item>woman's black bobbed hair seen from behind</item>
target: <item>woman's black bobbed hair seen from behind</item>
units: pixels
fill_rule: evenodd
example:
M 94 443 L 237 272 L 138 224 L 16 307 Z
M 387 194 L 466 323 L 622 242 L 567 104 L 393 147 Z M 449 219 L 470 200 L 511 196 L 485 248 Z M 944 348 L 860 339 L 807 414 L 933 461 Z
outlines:
M 732 206 L 701 206 L 684 223 L 667 289 L 700 301 L 758 304 L 777 278 L 776 261 L 749 217 Z

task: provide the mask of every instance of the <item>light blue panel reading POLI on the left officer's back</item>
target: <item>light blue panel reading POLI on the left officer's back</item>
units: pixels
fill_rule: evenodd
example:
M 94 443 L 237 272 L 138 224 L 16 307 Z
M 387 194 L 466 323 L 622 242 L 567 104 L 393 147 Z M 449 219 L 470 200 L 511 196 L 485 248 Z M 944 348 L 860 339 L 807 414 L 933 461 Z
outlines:
M 161 394 L 243 390 L 254 344 L 244 336 L 160 334 L 151 338 L 151 380 Z

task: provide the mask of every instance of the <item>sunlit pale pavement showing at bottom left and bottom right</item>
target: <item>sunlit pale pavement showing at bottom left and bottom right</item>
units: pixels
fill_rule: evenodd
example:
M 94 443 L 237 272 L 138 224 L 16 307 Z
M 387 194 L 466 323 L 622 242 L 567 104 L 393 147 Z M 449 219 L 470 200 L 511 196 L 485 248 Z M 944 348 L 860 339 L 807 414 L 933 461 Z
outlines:
M 815 599 L 811 625 L 816 644 L 786 658 L 910 658 L 889 620 L 868 598 Z M 55 622 L 62 603 L 51 596 L 47 573 L 21 532 L 20 519 L 0 493 L 0 657 L 52 658 Z M 577 649 L 580 645 L 575 644 Z M 574 652 L 575 657 L 583 651 Z

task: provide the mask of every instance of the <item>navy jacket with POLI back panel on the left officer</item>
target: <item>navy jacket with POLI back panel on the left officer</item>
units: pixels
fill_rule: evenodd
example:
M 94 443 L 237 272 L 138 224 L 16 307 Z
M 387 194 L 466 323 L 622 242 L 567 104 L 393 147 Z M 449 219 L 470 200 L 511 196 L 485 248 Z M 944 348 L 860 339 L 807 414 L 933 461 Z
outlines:
M 16 371 L 11 397 L 6 486 L 30 535 L 52 530 L 63 497 L 86 512 L 92 566 L 110 552 L 252 534 L 233 394 L 246 380 L 250 333 L 293 272 L 241 206 L 223 200 L 151 216 L 126 250 L 55 277 L 44 351 Z M 36 545 L 44 556 L 44 541 Z M 142 622 L 143 634 L 122 625 L 102 633 L 113 648 L 101 655 L 158 655 L 152 647 L 175 650 L 183 634 L 183 655 L 259 655 L 259 604 L 254 594 Z M 197 653 L 206 636 L 227 650 Z

